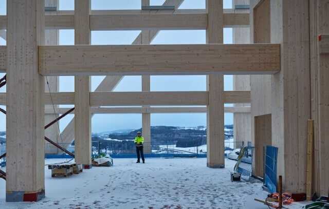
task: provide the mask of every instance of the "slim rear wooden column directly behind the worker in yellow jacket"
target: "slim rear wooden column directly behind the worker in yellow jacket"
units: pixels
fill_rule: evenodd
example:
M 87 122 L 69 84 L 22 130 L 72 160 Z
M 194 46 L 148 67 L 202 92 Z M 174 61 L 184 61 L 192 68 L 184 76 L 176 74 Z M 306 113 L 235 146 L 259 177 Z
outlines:
M 150 0 L 142 0 L 142 6 L 149 6 Z M 151 43 L 151 30 L 142 30 L 142 44 Z M 150 75 L 142 75 L 142 91 L 150 91 Z M 144 153 L 151 154 L 151 113 L 142 113 L 142 136 L 144 137 Z

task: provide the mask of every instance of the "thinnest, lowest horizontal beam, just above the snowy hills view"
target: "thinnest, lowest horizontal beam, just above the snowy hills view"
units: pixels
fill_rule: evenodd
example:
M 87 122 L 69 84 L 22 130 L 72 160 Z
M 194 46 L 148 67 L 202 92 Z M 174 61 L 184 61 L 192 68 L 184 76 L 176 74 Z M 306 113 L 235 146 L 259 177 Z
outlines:
M 64 114 L 70 108 L 45 108 L 46 114 Z M 250 107 L 224 107 L 226 113 L 250 113 Z M 207 107 L 92 107 L 93 114 L 131 114 L 131 113 L 206 113 Z M 70 112 L 74 114 L 74 111 Z

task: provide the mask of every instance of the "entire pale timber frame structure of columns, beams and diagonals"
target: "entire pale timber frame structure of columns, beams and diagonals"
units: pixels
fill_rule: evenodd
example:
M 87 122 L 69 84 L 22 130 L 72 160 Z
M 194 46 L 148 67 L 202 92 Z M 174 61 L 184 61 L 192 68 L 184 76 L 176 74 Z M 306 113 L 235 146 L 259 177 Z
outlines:
M 151 113 L 207 112 L 207 166 L 222 168 L 228 111 L 234 113 L 235 136 L 260 149 L 266 143 L 258 135 L 269 134 L 267 145 L 279 148 L 284 191 L 303 193 L 312 185 L 313 192 L 326 193 L 328 0 L 234 0 L 250 9 L 223 9 L 223 0 L 206 0 L 206 10 L 180 10 L 184 0 L 166 0 L 163 5 L 175 9 L 156 11 L 95 11 L 90 1 L 75 0 L 75 11 L 45 12 L 45 6 L 58 8 L 58 1 L 7 0 L 7 15 L 0 15 L 0 35 L 7 40 L 0 46 L 7 85 L 7 93 L 0 93 L 0 105 L 7 105 L 6 201 L 38 201 L 45 195 L 43 139 L 59 136 L 56 127 L 45 132 L 44 125 L 67 111 L 56 106 L 53 112 L 50 104 L 75 105 L 75 119 L 62 138 L 75 139 L 76 163 L 85 168 L 91 164 L 92 115 L 119 112 L 142 113 L 147 142 Z M 150 5 L 149 0 L 141 3 Z M 233 28 L 234 44 L 223 44 L 225 27 Z M 56 46 L 59 29 L 75 30 L 74 46 Z M 133 45 L 90 45 L 90 31 L 136 29 L 141 33 Z M 207 43 L 150 45 L 159 30 L 176 29 L 206 30 Z M 150 91 L 150 75 L 192 74 L 207 75 L 207 91 Z M 234 91 L 224 91 L 224 74 L 234 75 Z M 75 76 L 75 92 L 56 92 L 61 75 Z M 106 75 L 95 92 L 90 92 L 92 75 Z M 124 75 L 142 75 L 142 91 L 111 92 Z M 51 89 L 45 89 L 48 76 Z M 206 107 L 152 107 L 157 105 Z M 264 120 L 268 126 L 255 122 L 263 115 L 271 115 Z M 315 121 L 312 184 L 306 178 L 308 119 Z

